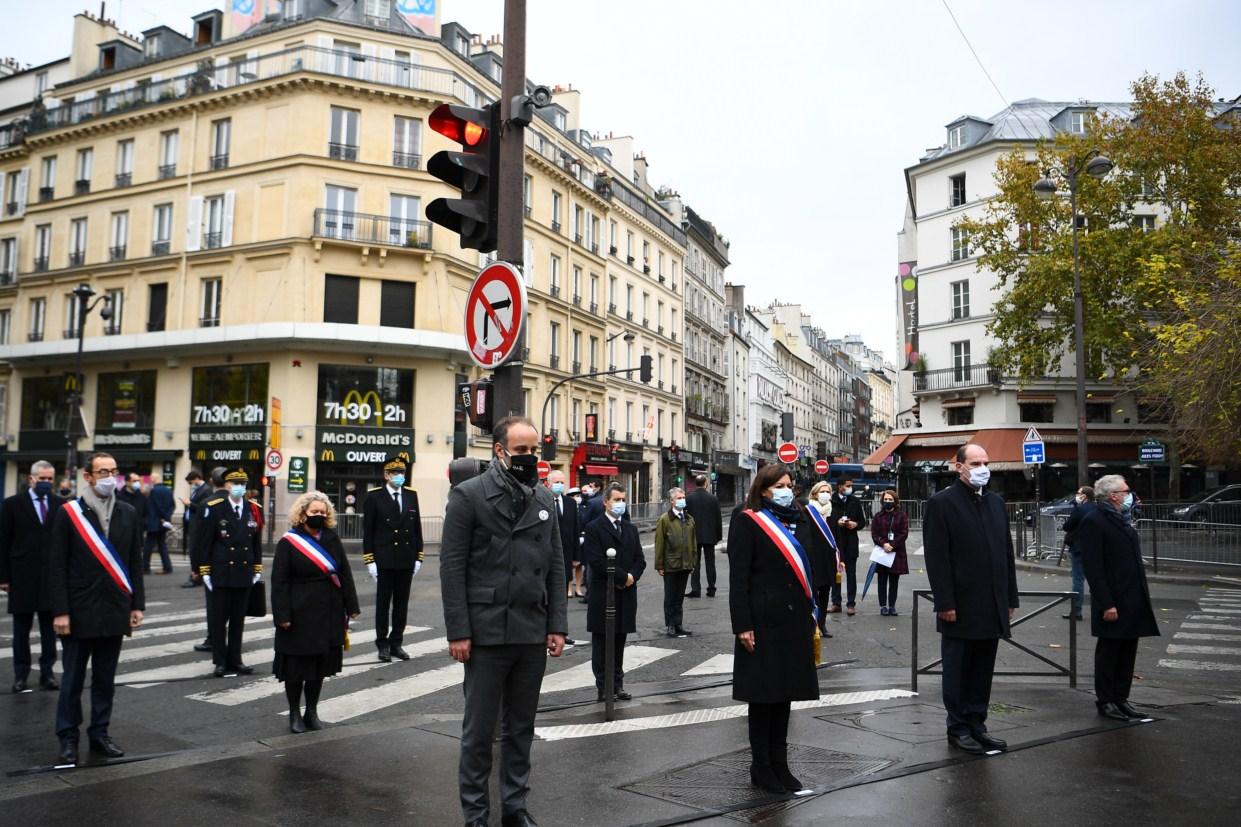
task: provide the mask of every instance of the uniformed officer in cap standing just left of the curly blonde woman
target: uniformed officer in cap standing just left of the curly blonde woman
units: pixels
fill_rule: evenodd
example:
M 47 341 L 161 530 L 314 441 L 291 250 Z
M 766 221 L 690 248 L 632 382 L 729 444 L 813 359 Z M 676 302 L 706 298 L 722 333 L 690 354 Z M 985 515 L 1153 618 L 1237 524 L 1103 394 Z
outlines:
M 211 592 L 211 659 L 217 678 L 254 671 L 241 661 L 249 587 L 263 576 L 261 507 L 246 499 L 248 482 L 244 471 L 228 472 L 226 495 L 208 499 L 201 519 L 195 518 L 197 535 L 191 563 Z

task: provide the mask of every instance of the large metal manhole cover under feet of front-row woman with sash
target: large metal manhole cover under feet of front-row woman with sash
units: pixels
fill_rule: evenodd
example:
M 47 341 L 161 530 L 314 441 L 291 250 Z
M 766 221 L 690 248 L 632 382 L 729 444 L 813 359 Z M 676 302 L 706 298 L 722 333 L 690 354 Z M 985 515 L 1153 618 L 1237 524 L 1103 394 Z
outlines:
M 807 787 L 836 785 L 849 779 L 879 772 L 892 765 L 885 759 L 849 755 L 817 746 L 788 745 L 788 766 Z M 673 801 L 696 810 L 736 807 L 747 801 L 763 800 L 767 793 L 750 784 L 750 750 L 737 750 L 679 770 L 652 776 L 620 787 L 653 798 Z M 777 812 L 793 807 L 804 798 L 761 803 L 737 810 L 727 818 L 757 823 Z

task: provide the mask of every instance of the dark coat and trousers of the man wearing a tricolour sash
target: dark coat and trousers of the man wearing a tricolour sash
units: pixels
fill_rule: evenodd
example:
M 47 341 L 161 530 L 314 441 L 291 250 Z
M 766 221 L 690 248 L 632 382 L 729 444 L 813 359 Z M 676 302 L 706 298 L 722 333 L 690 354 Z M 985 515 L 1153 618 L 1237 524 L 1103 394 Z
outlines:
M 103 526 L 96 513 L 84 503 L 83 512 L 86 520 L 102 535 Z M 125 594 L 82 540 L 67 509 L 61 508 L 52 520 L 47 563 L 52 615 L 69 616 L 69 633 L 61 638 L 65 676 L 56 704 L 56 734 L 62 739 L 76 739 L 82 725 L 82 687 L 88 663 L 91 726 L 87 735 L 98 739 L 108 734 L 120 642 L 130 632 L 130 612 L 146 607 L 141 535 L 143 528 L 134 509 L 122 502 L 114 503 L 107 538 L 128 569 L 133 594 Z

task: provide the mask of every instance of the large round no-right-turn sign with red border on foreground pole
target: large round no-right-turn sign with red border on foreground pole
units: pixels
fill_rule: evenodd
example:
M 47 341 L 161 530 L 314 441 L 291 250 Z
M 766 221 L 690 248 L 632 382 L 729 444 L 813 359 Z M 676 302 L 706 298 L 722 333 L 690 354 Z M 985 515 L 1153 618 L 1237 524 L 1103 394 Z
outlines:
M 498 261 L 483 268 L 465 297 L 465 346 L 479 368 L 493 369 L 517 349 L 526 323 L 526 283 L 516 267 Z

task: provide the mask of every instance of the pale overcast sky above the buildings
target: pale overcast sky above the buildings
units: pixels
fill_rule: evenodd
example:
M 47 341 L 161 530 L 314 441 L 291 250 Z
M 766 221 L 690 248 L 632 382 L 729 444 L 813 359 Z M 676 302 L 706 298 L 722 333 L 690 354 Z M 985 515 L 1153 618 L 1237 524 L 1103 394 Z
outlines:
M 0 56 L 68 52 L 97 0 L 6 6 Z M 441 0 L 443 21 L 503 31 L 503 0 Z M 108 1 L 140 31 L 189 31 L 227 0 Z M 1128 99 L 1143 72 L 1203 72 L 1241 96 L 1235 0 L 529 0 L 527 75 L 581 89 L 582 125 L 630 134 L 650 176 L 732 243 L 747 301 L 800 302 L 829 335 L 896 351 L 906 166 L 959 114 L 1006 101 Z M 29 9 L 26 11 L 25 9 Z M 1000 94 L 1004 97 L 1001 98 Z

